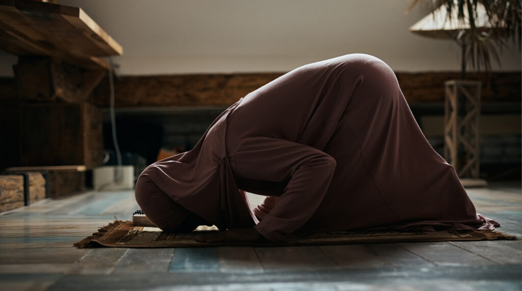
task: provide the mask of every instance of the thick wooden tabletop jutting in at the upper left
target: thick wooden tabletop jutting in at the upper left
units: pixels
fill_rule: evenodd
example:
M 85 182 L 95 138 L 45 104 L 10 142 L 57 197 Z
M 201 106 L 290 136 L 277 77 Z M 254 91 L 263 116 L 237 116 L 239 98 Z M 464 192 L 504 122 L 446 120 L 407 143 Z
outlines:
M 123 53 L 81 8 L 28 0 L 0 0 L 0 49 L 85 68 L 109 68 L 100 57 Z

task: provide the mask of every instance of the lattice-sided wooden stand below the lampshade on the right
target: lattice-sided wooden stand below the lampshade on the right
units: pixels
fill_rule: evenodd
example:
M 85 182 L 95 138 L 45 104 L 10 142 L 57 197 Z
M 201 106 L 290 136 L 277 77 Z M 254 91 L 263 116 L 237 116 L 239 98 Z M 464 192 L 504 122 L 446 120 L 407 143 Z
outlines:
M 480 94 L 481 82 L 448 80 L 445 82 L 444 158 L 467 185 L 486 185 L 480 179 Z M 464 97 L 464 98 L 461 98 Z M 464 100 L 465 104 L 459 104 Z M 458 114 L 464 105 L 466 113 Z M 459 159 L 459 150 L 464 159 Z M 465 184 L 464 182 L 462 183 Z

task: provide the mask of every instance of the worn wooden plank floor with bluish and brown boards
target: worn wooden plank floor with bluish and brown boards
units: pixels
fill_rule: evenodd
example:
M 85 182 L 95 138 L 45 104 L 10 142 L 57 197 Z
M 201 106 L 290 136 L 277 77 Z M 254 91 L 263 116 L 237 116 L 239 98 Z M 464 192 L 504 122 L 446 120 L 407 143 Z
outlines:
M 522 238 L 520 182 L 468 188 Z M 0 290 L 520 290 L 522 241 L 306 247 L 76 249 L 130 219 L 133 191 L 88 192 L 0 215 Z

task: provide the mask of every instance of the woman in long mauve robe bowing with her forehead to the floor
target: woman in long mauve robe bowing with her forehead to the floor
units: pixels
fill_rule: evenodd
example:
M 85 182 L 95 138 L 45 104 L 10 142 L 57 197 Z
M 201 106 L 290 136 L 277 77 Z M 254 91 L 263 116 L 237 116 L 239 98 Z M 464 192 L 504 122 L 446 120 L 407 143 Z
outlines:
M 252 211 L 244 191 L 268 197 Z M 367 54 L 304 65 L 241 98 L 192 150 L 147 167 L 136 201 L 165 231 L 216 225 L 207 242 L 500 226 L 476 213 L 392 69 Z

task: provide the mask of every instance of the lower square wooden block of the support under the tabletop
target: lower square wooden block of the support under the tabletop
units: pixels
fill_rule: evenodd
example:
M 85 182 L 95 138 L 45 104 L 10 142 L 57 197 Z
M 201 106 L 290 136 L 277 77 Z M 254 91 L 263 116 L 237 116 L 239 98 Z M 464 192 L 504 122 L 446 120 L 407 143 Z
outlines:
M 19 166 L 103 164 L 102 111 L 89 103 L 21 103 Z

